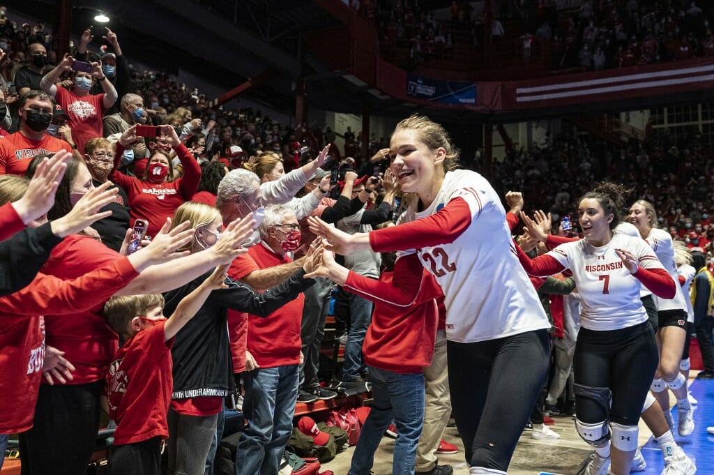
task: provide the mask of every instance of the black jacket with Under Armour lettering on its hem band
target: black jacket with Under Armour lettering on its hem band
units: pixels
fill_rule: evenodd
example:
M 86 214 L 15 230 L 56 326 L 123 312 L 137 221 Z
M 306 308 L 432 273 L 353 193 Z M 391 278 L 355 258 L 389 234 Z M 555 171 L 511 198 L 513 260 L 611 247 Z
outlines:
M 166 292 L 164 314 L 176 310 L 178 302 L 206 280 L 210 273 Z M 235 390 L 233 360 L 228 341 L 228 309 L 268 316 L 312 286 L 303 279 L 303 269 L 272 289 L 258 293 L 246 284 L 226 279 L 228 289 L 211 292 L 196 316 L 176 334 L 171 356 L 174 359 L 173 399 L 197 396 L 225 397 Z

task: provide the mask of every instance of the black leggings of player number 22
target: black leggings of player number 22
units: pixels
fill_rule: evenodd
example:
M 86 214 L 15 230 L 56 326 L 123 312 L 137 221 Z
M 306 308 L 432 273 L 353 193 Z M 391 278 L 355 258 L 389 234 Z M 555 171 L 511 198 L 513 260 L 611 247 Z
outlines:
M 508 470 L 548 371 L 548 331 L 448 341 L 451 407 L 470 466 Z

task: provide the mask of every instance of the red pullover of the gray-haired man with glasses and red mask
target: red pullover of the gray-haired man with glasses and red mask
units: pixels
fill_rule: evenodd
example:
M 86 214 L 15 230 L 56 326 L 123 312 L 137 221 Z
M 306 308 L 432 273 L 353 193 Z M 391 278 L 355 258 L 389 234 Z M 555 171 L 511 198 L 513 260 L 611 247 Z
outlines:
M 261 269 L 291 262 L 289 256 L 280 256 L 264 244 L 248 249 L 248 256 Z M 300 362 L 300 324 L 303 318 L 305 296 L 300 294 L 288 304 L 266 317 L 248 314 L 248 351 L 261 368 L 275 368 Z

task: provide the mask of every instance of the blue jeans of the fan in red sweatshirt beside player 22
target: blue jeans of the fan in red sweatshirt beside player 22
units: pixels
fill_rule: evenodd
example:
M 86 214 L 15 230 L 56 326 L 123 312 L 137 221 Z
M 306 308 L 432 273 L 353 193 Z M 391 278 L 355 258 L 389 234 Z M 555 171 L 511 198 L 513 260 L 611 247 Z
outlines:
M 424 375 L 401 374 L 369 366 L 372 379 L 372 410 L 362 426 L 352 456 L 351 475 L 369 475 L 374 452 L 394 419 L 397 439 L 394 443 L 393 475 L 413 475 L 416 446 L 424 422 Z

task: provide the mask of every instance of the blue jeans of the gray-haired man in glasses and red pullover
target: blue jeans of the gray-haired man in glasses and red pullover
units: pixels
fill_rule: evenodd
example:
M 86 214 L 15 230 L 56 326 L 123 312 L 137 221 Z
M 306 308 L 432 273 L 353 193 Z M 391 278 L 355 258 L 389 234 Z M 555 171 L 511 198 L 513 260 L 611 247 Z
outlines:
M 236 475 L 275 475 L 293 431 L 298 365 L 246 371 L 243 386 L 248 426 L 236 450 Z

